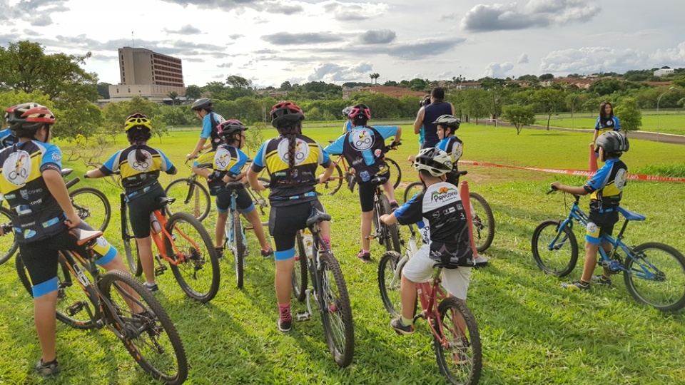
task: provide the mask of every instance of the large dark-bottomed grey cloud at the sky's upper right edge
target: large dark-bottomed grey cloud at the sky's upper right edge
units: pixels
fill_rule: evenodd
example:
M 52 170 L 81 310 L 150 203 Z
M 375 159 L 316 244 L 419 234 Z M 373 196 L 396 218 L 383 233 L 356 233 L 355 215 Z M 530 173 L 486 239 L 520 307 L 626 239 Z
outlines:
M 600 11 L 589 0 L 530 0 L 522 9 L 517 3 L 478 4 L 462 19 L 462 29 L 487 32 L 562 26 L 587 22 Z

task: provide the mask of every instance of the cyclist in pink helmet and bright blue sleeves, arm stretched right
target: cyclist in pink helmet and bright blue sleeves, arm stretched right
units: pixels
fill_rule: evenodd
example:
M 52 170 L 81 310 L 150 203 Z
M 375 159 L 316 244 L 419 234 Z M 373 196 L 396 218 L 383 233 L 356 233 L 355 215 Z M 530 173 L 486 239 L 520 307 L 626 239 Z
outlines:
M 395 140 L 390 143 L 390 147 L 395 147 L 400 143 L 402 128 L 399 125 L 380 125 L 369 127 L 366 124 L 371 118 L 371 111 L 365 104 L 357 104 L 350 111 L 350 121 L 354 127 L 349 133 L 345 133 L 340 138 L 331 143 L 324 150 L 333 155 L 345 157 L 350 167 L 355 173 L 355 179 L 359 184 L 359 201 L 362 207 L 362 250 L 357 254 L 357 258 L 362 262 L 371 260 L 371 220 L 373 217 L 373 197 L 376 187 L 371 180 L 380 175 L 387 178 L 383 185 L 383 190 L 387 194 L 392 208 L 397 208 L 395 200 L 395 190 L 390 180 L 390 168 L 385 163 L 385 139 L 391 136 Z

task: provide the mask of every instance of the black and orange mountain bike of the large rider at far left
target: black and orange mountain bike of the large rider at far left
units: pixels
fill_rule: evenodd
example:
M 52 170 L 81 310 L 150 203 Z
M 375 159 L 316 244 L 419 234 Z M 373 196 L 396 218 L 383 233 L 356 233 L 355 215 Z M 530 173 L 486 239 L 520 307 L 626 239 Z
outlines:
M 161 304 L 131 274 L 118 270 L 100 273 L 92 247 L 101 231 L 71 229 L 71 233 L 79 245 L 88 246 L 90 254 L 59 252 L 56 318 L 75 329 L 106 327 L 154 379 L 183 384 L 188 377 L 186 351 Z M 32 296 L 31 279 L 21 257 L 16 258 L 16 271 Z

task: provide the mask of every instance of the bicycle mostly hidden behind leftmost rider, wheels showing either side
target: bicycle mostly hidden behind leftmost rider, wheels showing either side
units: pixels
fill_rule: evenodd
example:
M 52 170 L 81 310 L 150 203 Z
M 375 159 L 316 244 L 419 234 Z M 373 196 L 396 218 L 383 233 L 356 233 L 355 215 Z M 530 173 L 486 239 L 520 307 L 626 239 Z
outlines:
M 63 168 L 61 170 L 62 178 L 71 174 L 73 169 Z M 67 190 L 76 183 L 80 182 L 81 178 L 73 178 L 66 183 Z M 111 206 L 106 195 L 100 190 L 91 187 L 77 188 L 69 192 L 71 198 L 71 205 L 73 206 L 76 215 L 86 222 L 93 222 L 97 230 L 105 231 L 111 219 Z M 10 223 L 14 214 L 6 207 L 0 207 L 0 222 Z M 10 231 L 4 237 L 0 238 L 0 250 L 4 250 L 0 254 L 0 265 L 7 262 L 16 252 L 19 244 L 14 239 L 14 232 Z

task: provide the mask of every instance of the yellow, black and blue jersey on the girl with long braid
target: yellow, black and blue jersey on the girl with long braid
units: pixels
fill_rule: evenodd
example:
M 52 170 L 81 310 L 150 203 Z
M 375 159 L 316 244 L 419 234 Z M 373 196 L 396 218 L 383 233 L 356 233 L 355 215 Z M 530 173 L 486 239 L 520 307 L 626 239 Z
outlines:
M 328 168 L 330 158 L 319 143 L 305 135 L 296 135 L 295 170 L 290 175 L 288 166 L 289 141 L 283 137 L 266 140 L 252 162 L 252 170 L 259 173 L 266 168 L 271 177 L 269 201 L 273 207 L 290 205 L 290 200 L 317 200 L 314 185 L 318 183 L 318 165 Z

